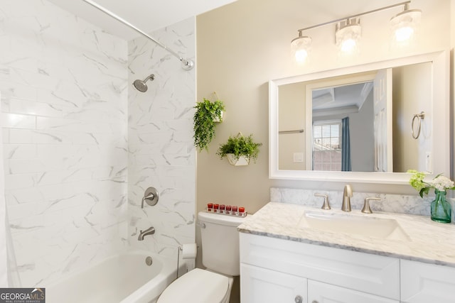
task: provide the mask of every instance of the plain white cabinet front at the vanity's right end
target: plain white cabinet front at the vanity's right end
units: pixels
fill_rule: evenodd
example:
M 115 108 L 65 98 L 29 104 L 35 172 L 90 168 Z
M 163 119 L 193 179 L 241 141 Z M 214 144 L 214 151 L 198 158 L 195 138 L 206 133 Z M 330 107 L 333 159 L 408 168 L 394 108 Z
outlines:
M 401 301 L 455 303 L 455 268 L 401 260 Z

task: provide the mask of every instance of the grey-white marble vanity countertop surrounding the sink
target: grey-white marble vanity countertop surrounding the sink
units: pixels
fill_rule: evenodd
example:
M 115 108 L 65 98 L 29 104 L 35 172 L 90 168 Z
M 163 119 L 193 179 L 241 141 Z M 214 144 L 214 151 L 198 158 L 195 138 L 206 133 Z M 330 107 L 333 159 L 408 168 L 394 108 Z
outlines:
M 402 231 L 407 234 L 408 240 L 374 238 L 354 233 L 299 227 L 305 211 L 343 216 L 368 216 L 372 219 L 395 219 L 402 227 Z M 354 209 L 346 213 L 338 209 L 323 210 L 299 204 L 269 202 L 254 215 L 249 214 L 237 229 L 242 233 L 259 236 L 455 267 L 455 224 L 434 222 L 429 216 L 385 212 L 363 214 L 360 210 Z

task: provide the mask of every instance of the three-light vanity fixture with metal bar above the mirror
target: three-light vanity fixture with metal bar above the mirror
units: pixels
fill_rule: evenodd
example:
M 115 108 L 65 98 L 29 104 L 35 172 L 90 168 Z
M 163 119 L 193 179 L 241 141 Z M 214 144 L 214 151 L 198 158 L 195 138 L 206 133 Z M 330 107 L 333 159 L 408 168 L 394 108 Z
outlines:
M 420 21 L 422 13 L 419 9 L 410 9 L 411 1 L 405 1 L 390 6 L 384 6 L 380 9 L 373 9 L 373 11 L 366 11 L 365 13 L 358 13 L 353 16 L 339 18 L 333 21 L 318 24 L 316 26 L 309 26 L 297 30 L 299 36 L 291 40 L 291 50 L 295 57 L 296 62 L 303 63 L 309 55 L 311 47 L 311 37 L 304 35 L 303 32 L 311 28 L 318 28 L 328 24 L 336 23 L 335 40 L 336 45 L 342 53 L 353 53 L 358 49 L 362 28 L 360 26 L 360 16 L 365 16 L 377 11 L 384 11 L 385 9 L 392 9 L 397 6 L 403 6 L 404 9 L 390 20 L 390 26 L 397 41 L 405 41 L 412 38 L 413 33 Z

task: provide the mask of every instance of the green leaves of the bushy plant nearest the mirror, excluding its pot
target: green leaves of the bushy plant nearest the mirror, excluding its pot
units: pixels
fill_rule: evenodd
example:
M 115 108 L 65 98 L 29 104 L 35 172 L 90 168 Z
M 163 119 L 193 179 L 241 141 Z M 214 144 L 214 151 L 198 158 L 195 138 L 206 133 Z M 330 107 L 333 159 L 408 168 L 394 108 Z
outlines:
M 259 146 L 262 143 L 253 142 L 252 136 L 251 134 L 250 136 L 244 137 L 239 133 L 235 137 L 229 137 L 228 142 L 220 144 L 217 155 L 220 156 L 220 159 L 223 159 L 228 153 L 232 153 L 237 160 L 240 156 L 244 156 L 256 162 L 257 156 L 259 155 Z

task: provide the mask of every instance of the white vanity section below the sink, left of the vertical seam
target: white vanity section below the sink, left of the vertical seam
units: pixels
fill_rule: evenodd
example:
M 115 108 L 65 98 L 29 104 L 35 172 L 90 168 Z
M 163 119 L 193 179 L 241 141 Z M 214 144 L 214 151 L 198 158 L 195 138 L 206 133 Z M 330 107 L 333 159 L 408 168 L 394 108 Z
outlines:
M 400 302 L 400 260 L 240 233 L 245 303 Z

